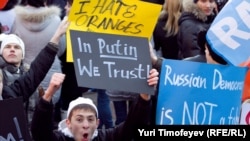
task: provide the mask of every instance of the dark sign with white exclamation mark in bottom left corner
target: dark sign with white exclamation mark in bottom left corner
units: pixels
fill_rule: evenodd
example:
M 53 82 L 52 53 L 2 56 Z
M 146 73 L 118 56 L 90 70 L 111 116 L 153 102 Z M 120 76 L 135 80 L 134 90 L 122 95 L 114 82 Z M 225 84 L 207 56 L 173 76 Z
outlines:
M 31 141 L 22 98 L 0 101 L 0 141 Z

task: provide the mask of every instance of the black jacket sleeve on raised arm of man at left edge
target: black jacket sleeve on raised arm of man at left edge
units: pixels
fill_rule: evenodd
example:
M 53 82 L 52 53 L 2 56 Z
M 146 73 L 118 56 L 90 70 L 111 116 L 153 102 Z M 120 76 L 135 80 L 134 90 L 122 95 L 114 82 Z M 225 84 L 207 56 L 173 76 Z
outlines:
M 54 62 L 57 50 L 57 47 L 50 43 L 47 44 L 31 63 L 29 71 L 21 75 L 11 85 L 3 86 L 3 99 L 23 96 L 23 101 L 28 101 L 29 97 L 35 92 L 49 71 Z

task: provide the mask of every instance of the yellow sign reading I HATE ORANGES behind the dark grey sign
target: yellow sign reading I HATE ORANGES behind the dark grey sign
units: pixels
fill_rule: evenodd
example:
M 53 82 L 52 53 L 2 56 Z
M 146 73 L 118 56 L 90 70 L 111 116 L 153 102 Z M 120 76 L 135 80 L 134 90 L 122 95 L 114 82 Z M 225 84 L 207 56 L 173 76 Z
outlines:
M 161 5 L 139 0 L 74 0 L 69 29 L 150 39 L 160 11 Z M 69 32 L 67 41 L 67 61 L 73 62 Z

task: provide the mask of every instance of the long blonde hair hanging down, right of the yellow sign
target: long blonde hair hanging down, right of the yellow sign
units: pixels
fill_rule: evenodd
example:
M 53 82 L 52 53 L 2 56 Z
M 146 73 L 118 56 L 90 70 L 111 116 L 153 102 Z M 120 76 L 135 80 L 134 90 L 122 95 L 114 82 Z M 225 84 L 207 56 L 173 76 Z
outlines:
M 160 18 L 168 15 L 167 22 L 163 28 L 166 30 L 167 37 L 176 35 L 179 31 L 178 21 L 183 10 L 182 3 L 182 0 L 165 0 L 165 3 L 163 4 Z

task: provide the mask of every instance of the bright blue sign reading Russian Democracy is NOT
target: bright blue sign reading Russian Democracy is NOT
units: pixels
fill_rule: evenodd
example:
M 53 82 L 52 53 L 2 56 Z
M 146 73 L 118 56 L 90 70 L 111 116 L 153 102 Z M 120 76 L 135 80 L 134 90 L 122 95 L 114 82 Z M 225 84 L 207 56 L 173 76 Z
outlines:
M 245 67 L 164 60 L 156 123 L 239 124 L 246 70 Z M 237 75 L 232 77 L 232 74 Z

